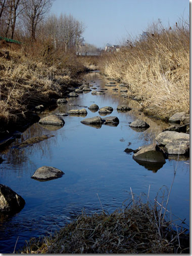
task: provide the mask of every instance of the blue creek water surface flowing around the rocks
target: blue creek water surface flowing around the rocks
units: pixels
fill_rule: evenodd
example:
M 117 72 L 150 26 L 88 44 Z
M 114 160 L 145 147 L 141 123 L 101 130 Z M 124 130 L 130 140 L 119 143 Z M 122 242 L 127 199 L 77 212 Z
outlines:
M 150 186 L 152 202 L 158 192 L 161 202 L 163 193 L 167 194 L 166 187 L 171 187 L 174 169 L 176 175 L 168 209 L 182 220 L 186 218 L 189 224 L 189 159 L 179 158 L 177 162 L 177 158 L 169 158 L 163 166 L 142 166 L 132 159 L 132 154 L 124 152 L 126 148 L 137 149 L 154 142 L 157 134 L 169 124 L 139 115 L 138 102 L 119 97 L 122 87 L 106 87 L 109 81 L 101 79 L 99 72 L 89 72 L 84 78 L 97 90 L 108 89 L 106 94 L 79 94 L 77 98 L 68 98 L 67 104 L 40 116 L 66 113 L 70 109 L 83 108 L 73 104 L 90 106 L 94 102 L 99 107 L 112 106 L 114 111 L 110 116 L 117 116 L 119 125 L 102 125 L 101 129 L 96 129 L 80 123 L 85 117 L 69 115 L 64 117 L 63 127 L 33 124 L 2 152 L 5 161 L 0 165 L 0 183 L 21 195 L 26 204 L 19 213 L 0 218 L 1 253 L 12 253 L 17 239 L 16 250 L 31 237 L 47 235 L 64 227 L 82 210 L 92 214 L 101 212 L 102 207 L 109 213 L 121 208 L 123 201 L 130 198 L 130 188 L 136 197 L 148 194 Z M 118 88 L 118 92 L 114 88 Z M 118 112 L 119 104 L 129 104 L 132 110 Z M 100 116 L 98 112 L 86 110 L 86 118 Z M 138 131 L 129 127 L 137 118 L 146 121 L 150 128 Z M 13 148 L 25 139 L 43 134 L 54 137 L 31 147 Z M 35 170 L 43 165 L 54 166 L 65 174 L 44 182 L 32 179 Z M 172 216 L 172 220 L 176 218 Z

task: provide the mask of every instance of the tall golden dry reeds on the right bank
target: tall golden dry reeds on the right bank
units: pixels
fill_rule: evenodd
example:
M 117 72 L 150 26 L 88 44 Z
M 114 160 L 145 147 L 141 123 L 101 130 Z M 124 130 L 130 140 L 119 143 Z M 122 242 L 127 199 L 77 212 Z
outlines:
M 150 28 L 146 40 L 135 41 L 100 63 L 105 75 L 125 82 L 144 101 L 145 112 L 167 120 L 189 112 L 189 25 Z

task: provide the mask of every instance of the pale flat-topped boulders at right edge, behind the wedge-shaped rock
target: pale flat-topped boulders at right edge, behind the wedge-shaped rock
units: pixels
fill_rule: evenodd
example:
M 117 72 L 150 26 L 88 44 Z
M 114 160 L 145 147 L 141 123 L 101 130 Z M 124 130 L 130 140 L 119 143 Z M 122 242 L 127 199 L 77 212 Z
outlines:
M 164 150 L 169 155 L 189 156 L 189 134 L 187 133 L 165 131 L 161 132 L 156 140 L 165 146 Z

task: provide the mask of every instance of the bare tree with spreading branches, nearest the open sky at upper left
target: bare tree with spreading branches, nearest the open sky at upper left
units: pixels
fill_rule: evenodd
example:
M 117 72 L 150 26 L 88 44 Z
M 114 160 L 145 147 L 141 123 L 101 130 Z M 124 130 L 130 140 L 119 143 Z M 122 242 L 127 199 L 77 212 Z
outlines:
M 36 38 L 38 24 L 52 7 L 53 0 L 28 0 L 24 4 L 23 18 L 32 41 Z

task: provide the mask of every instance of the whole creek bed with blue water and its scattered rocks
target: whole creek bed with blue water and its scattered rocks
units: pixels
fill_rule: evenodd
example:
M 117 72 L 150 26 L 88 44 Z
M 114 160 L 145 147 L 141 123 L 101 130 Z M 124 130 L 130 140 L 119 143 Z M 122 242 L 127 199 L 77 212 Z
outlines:
M 38 106 L 38 122 L 2 148 L 0 252 L 13 252 L 18 236 L 21 246 L 63 227 L 82 208 L 101 211 L 100 201 L 113 211 L 130 188 L 139 195 L 150 187 L 150 198 L 160 191 L 162 200 L 175 171 L 169 205 L 189 223 L 189 119 L 185 113 L 170 124 L 150 119 L 126 92 L 125 85 L 90 72 L 52 111 Z M 8 191 L 22 203 L 9 202 Z

